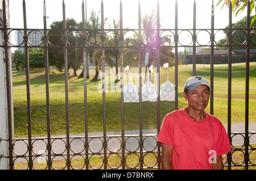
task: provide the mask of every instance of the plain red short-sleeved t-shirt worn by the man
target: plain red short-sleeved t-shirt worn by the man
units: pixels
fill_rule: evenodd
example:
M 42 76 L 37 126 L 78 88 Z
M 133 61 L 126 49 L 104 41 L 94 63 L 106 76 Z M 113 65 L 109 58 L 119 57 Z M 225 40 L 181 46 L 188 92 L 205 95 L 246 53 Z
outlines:
M 205 112 L 203 121 L 192 120 L 184 108 L 164 117 L 158 142 L 174 146 L 172 169 L 212 169 L 213 155 L 231 151 L 221 121 Z

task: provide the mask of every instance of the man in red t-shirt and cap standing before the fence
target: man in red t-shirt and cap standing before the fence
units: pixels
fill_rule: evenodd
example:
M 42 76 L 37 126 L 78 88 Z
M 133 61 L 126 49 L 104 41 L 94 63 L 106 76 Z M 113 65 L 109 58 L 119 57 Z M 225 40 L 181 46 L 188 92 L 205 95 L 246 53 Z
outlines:
M 203 77 L 185 82 L 188 106 L 168 113 L 158 136 L 162 169 L 223 169 L 222 155 L 231 145 L 221 121 L 204 111 L 210 90 Z

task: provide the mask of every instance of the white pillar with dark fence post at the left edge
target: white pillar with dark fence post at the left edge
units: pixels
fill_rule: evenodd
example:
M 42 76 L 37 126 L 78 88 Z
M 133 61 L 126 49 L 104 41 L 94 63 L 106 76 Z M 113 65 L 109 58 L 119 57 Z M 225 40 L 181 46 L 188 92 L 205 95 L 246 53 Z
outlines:
M 7 44 L 7 30 L 9 27 L 9 3 L 0 0 L 0 45 Z M 7 46 L 6 46 L 7 47 Z M 9 167 L 9 142 L 13 137 L 13 83 L 11 80 L 11 52 L 7 48 L 0 48 L 0 169 Z M 10 159 L 11 160 L 11 159 Z

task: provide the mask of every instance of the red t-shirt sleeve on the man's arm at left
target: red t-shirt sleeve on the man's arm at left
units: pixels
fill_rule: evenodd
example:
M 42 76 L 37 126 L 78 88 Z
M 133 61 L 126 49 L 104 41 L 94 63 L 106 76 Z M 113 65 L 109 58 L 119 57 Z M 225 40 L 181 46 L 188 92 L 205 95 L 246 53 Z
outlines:
M 174 146 L 174 130 L 168 115 L 163 119 L 157 141 L 168 146 Z

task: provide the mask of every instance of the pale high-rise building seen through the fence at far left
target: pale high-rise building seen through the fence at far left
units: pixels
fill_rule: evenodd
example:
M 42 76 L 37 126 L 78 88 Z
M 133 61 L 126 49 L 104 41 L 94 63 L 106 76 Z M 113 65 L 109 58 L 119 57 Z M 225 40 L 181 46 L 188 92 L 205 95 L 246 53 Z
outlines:
M 24 33 L 24 31 L 22 31 Z M 16 45 L 24 46 L 24 36 L 23 33 L 16 31 Z M 39 31 L 31 31 L 28 30 L 28 47 L 38 46 L 42 44 L 42 36 L 43 34 Z M 23 47 L 18 47 L 17 50 L 22 52 L 25 51 Z

